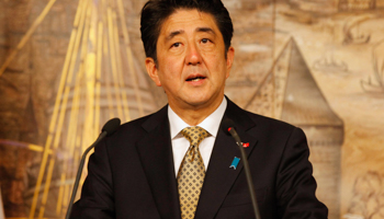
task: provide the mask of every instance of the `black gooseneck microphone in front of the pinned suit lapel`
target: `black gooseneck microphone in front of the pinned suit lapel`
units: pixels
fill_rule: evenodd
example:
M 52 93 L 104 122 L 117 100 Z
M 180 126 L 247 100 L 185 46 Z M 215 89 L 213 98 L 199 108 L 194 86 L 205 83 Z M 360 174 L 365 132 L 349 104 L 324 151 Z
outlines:
M 255 217 L 257 219 L 261 219 L 260 218 L 259 207 L 258 207 L 258 204 L 257 204 L 257 200 L 256 200 L 256 194 L 255 194 L 252 176 L 251 176 L 250 171 L 249 171 L 248 159 L 247 159 L 246 152 L 244 151 L 242 142 L 240 140 L 240 137 L 239 137 L 239 135 L 237 134 L 237 131 L 235 129 L 235 123 L 231 119 L 229 119 L 229 118 L 224 118 L 223 122 L 222 122 L 222 128 L 223 128 L 225 134 L 227 134 L 227 135 L 230 134 L 231 135 L 231 137 L 236 141 L 236 145 L 240 149 L 241 159 L 242 159 L 242 163 L 244 163 L 244 170 L 246 172 L 248 188 L 249 188 L 249 193 L 250 193 L 250 198 L 252 200 L 252 207 L 253 207 Z

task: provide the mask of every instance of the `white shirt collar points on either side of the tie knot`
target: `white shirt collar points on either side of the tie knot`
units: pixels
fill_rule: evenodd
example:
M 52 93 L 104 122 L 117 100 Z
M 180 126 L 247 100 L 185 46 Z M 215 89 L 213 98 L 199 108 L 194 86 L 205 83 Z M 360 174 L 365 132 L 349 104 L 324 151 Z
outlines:
M 222 104 L 214 111 L 208 117 L 206 117 L 197 126 L 204 128 L 211 134 L 211 136 L 216 137 L 217 130 L 221 125 L 221 120 L 224 116 L 225 110 L 227 108 L 227 100 L 223 97 Z M 190 127 L 183 119 L 181 119 L 178 114 L 176 114 L 172 108 L 168 105 L 168 119 L 170 124 L 171 139 L 178 136 L 178 134 L 185 127 Z

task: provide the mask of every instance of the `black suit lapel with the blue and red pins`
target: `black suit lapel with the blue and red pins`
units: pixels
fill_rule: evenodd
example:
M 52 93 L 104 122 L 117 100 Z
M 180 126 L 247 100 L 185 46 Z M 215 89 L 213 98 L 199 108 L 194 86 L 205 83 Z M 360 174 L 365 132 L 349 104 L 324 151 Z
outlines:
M 247 134 L 247 130 L 256 125 L 242 110 L 229 100 L 224 117 L 233 119 L 242 142 L 249 142 L 249 147 L 245 148 L 247 157 L 249 157 L 257 145 L 257 139 Z M 242 170 L 241 160 L 236 170 L 229 168 L 235 157 L 240 158 L 238 146 L 231 136 L 226 135 L 219 129 L 205 175 L 195 219 L 210 219 L 215 217 L 234 182 Z

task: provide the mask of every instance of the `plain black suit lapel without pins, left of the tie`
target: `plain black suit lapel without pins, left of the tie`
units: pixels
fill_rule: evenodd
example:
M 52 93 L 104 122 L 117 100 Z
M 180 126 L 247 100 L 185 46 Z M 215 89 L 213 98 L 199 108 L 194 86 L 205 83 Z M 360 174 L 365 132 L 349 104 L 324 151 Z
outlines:
M 180 218 L 167 106 L 143 124 L 148 131 L 137 143 L 143 169 L 161 218 Z

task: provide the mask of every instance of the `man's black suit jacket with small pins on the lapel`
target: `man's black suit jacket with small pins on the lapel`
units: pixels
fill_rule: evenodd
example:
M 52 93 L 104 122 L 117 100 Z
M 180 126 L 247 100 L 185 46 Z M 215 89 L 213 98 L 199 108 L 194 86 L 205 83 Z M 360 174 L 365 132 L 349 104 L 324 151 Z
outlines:
M 316 182 L 304 132 L 251 114 L 228 101 L 246 148 L 262 219 L 327 218 L 315 197 Z M 235 140 L 218 130 L 200 196 L 196 219 L 255 218 Z M 71 218 L 180 219 L 167 107 L 122 125 L 90 157 L 81 199 Z

